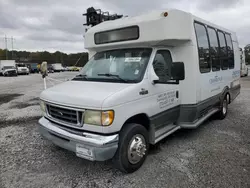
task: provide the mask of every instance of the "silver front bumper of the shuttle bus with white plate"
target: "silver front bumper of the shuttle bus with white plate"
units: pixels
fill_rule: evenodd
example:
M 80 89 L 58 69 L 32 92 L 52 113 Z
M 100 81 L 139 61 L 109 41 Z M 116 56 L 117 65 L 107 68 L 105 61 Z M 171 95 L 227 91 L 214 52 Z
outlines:
M 118 148 L 118 134 L 102 136 L 83 132 L 80 136 L 59 128 L 44 117 L 39 120 L 39 132 L 54 144 L 91 161 L 111 159 Z

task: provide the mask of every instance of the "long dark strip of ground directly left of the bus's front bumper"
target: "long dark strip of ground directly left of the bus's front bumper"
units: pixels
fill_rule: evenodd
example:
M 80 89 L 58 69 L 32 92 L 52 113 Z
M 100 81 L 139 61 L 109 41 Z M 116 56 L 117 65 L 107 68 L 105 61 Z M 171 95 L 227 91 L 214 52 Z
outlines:
M 0 120 L 0 129 L 9 127 L 9 126 L 19 126 L 20 124 L 25 125 L 26 123 L 30 123 L 31 121 L 37 121 L 41 118 L 41 116 L 34 116 L 34 117 L 26 117 L 21 119 L 13 119 L 13 120 Z

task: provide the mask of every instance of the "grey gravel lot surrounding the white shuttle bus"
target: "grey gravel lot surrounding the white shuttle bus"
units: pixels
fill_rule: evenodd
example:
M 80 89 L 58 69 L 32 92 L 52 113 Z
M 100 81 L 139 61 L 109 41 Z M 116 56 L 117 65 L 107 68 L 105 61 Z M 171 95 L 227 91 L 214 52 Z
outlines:
M 54 73 L 66 80 L 77 73 Z M 140 170 L 89 162 L 42 139 L 40 75 L 0 77 L 0 188 L 9 187 L 250 187 L 250 77 L 225 120 L 180 130 L 151 148 Z M 48 83 L 48 87 L 52 86 Z

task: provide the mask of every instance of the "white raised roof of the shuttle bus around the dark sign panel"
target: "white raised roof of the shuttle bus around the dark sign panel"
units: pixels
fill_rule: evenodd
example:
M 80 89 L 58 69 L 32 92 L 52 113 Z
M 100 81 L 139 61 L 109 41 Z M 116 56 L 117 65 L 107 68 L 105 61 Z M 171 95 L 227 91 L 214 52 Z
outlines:
M 164 12 L 168 12 L 167 17 L 163 16 Z M 187 13 L 177 9 L 159 10 L 135 17 L 124 17 L 117 20 L 105 21 L 90 28 L 85 34 L 85 48 L 98 49 L 104 47 L 135 44 L 180 44 L 180 41 L 190 41 L 194 37 L 193 20 L 201 21 L 207 24 L 209 23 L 210 26 L 223 29 L 226 32 L 230 32 L 229 30 L 193 16 L 191 13 Z M 119 29 L 133 25 L 139 26 L 140 37 L 137 40 L 99 45 L 96 45 L 94 42 L 94 35 L 97 32 Z

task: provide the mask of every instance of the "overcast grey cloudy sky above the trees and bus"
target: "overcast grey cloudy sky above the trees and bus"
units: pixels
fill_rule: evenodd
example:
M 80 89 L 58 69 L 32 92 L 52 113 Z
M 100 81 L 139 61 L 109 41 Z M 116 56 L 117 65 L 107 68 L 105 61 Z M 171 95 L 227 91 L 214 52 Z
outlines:
M 15 50 L 86 51 L 82 14 L 91 6 L 128 16 L 176 8 L 235 31 L 242 47 L 250 43 L 250 0 L 0 0 L 0 48 L 6 35 Z

